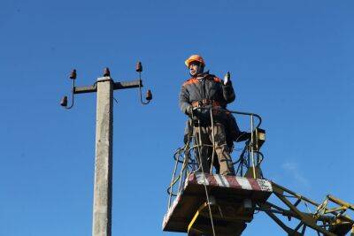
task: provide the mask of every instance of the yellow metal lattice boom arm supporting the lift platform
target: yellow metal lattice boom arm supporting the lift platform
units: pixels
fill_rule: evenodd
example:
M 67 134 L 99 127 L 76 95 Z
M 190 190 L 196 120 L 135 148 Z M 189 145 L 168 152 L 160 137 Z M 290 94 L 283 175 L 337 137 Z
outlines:
M 275 183 L 273 185 L 273 193 L 283 202 L 289 209 L 283 209 L 270 202 L 259 204 L 259 210 L 265 211 L 281 228 L 289 235 L 304 235 L 306 227 L 312 228 L 314 231 L 323 233 L 326 236 L 336 236 L 336 231 L 346 234 L 350 232 L 354 236 L 354 221 L 348 216 L 344 215 L 348 209 L 354 210 L 354 205 L 343 202 L 332 195 L 327 195 L 327 198 L 322 203 L 314 202 L 303 195 L 296 194 L 291 190 L 281 187 Z M 290 202 L 291 199 L 296 199 L 295 203 Z M 314 213 L 305 213 L 298 209 L 300 203 L 312 205 L 316 209 Z M 329 208 L 329 203 L 338 206 Z M 306 205 L 307 206 L 307 205 Z M 300 223 L 296 228 L 290 228 L 285 225 L 276 214 L 291 218 L 296 218 Z

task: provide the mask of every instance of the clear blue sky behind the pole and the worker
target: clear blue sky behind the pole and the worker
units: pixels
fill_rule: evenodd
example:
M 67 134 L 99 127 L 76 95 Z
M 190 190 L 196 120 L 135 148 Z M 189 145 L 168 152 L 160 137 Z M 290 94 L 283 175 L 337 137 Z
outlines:
M 21 1 L 0 3 L 0 235 L 91 234 L 96 95 L 59 105 L 104 66 L 116 91 L 113 235 L 161 232 L 172 154 L 186 117 L 178 93 L 184 60 L 204 56 L 220 77 L 232 72 L 233 110 L 264 118 L 266 178 L 320 202 L 354 202 L 353 1 Z M 240 120 L 240 123 L 243 121 Z M 244 127 L 244 126 L 243 126 Z M 258 214 L 244 235 L 284 235 Z

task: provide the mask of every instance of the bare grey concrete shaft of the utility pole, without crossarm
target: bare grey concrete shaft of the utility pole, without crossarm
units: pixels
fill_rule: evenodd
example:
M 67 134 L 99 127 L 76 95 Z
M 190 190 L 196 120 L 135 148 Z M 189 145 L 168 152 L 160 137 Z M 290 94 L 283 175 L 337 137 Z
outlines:
M 113 82 L 97 79 L 96 162 L 92 235 L 111 235 Z

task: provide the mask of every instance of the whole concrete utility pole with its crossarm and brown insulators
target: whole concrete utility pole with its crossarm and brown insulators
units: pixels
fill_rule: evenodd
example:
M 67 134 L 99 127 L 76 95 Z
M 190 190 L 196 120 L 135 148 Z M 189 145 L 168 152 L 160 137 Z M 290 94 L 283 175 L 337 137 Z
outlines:
M 142 72 L 139 62 L 136 72 Z M 139 76 L 140 77 L 140 76 Z M 141 77 L 140 77 L 141 78 Z M 73 95 L 97 92 L 96 102 L 96 159 L 95 159 L 95 187 L 93 209 L 93 236 L 112 235 L 112 146 L 113 146 L 113 90 L 127 88 L 142 88 L 142 80 L 129 82 L 114 82 L 108 68 L 104 69 L 104 77 L 98 78 L 94 86 L 75 87 L 76 71 L 70 76 L 73 80 Z M 152 99 L 150 90 L 146 96 L 147 103 Z M 73 98 L 72 98 L 73 100 Z M 141 95 L 142 102 L 142 95 Z M 147 104 L 142 102 L 143 104 Z M 67 109 L 67 97 L 61 105 Z

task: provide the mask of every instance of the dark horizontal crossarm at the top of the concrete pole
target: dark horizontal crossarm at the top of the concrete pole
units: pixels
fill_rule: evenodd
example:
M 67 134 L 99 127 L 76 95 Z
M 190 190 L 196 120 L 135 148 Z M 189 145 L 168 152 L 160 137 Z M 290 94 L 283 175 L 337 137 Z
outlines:
M 104 79 L 106 78 L 106 79 Z M 104 80 L 112 80 L 111 77 L 102 77 Z M 104 81 L 101 80 L 101 81 Z M 117 89 L 126 89 L 126 88 L 139 88 L 142 86 L 142 80 L 131 80 L 131 81 L 122 81 L 122 82 L 113 82 L 113 90 Z M 88 94 L 88 93 L 96 93 L 97 92 L 97 82 L 91 86 L 82 86 L 82 87 L 74 87 L 73 94 Z

